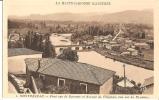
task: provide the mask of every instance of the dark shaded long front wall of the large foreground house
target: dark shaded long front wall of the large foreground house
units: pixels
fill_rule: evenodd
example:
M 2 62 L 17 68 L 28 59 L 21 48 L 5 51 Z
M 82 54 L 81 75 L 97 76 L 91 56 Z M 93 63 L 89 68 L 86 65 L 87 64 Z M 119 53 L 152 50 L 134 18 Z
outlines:
M 28 74 L 30 74 L 30 72 Z M 35 74 L 32 73 L 32 75 L 34 76 L 35 80 L 40 79 L 38 76 L 35 76 Z M 27 82 L 29 82 L 29 80 Z M 44 89 L 50 85 L 56 87 L 57 82 L 58 82 L 58 77 L 45 75 L 45 80 L 37 82 L 38 84 L 41 84 L 39 82 L 41 82 L 43 84 L 43 86 L 38 87 L 41 89 L 42 88 Z M 77 80 L 71 80 L 71 79 L 65 79 L 65 86 L 69 88 L 69 91 L 72 94 L 80 94 L 80 83 L 84 83 L 84 82 L 80 82 Z M 90 84 L 90 83 L 86 83 L 86 84 L 87 84 L 87 93 L 88 94 L 99 94 L 99 85 Z

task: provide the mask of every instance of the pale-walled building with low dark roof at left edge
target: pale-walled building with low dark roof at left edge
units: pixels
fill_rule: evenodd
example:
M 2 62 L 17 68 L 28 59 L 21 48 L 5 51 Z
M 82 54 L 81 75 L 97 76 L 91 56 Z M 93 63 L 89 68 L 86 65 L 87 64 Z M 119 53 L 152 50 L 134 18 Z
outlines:
M 42 52 L 27 48 L 8 49 L 8 72 L 25 74 L 25 58 L 42 58 Z

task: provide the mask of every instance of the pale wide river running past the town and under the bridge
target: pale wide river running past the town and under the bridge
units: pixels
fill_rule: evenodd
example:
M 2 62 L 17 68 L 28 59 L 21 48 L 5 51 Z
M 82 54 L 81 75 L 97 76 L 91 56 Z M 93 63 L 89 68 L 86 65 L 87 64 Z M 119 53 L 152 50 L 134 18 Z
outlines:
M 71 34 L 52 34 L 50 40 L 53 45 L 70 45 Z M 82 63 L 91 64 L 97 67 L 109 69 L 116 72 L 116 75 L 123 76 L 123 64 L 119 61 L 114 61 L 110 58 L 105 58 L 95 51 L 78 52 L 79 61 Z M 137 83 L 143 83 L 146 78 L 153 76 L 152 70 L 147 70 L 134 65 L 125 64 L 126 77 L 134 80 Z

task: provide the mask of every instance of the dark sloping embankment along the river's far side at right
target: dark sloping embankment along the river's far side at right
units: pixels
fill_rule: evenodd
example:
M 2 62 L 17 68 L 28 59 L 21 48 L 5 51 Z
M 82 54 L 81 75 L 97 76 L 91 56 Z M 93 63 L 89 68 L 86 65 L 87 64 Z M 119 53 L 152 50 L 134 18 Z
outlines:
M 141 67 L 148 70 L 154 70 L 153 68 L 153 61 L 143 60 L 139 58 L 134 58 L 130 56 L 119 56 L 119 55 L 111 55 L 105 50 L 101 49 L 94 49 L 97 53 L 105 56 L 106 58 L 114 59 L 114 61 L 120 61 L 126 64 L 134 65 L 137 67 Z

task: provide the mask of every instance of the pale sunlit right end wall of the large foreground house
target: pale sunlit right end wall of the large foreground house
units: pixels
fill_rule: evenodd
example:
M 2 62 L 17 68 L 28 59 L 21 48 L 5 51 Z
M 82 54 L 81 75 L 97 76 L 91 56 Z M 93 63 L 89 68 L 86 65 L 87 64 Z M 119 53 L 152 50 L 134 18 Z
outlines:
M 100 94 L 109 94 L 113 89 L 113 77 L 100 86 Z

